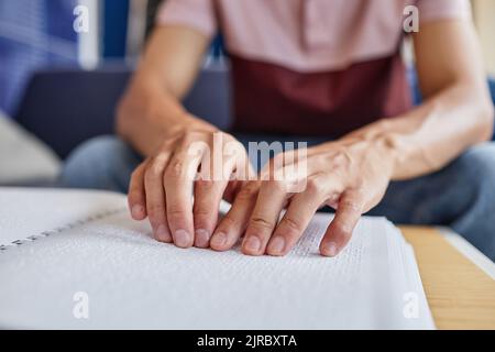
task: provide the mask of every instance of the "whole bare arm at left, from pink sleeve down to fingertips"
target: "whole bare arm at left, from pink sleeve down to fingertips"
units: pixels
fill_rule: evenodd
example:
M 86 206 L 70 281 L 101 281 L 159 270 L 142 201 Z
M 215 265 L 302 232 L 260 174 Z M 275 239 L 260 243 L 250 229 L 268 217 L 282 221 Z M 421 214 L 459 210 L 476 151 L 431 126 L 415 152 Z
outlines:
M 131 177 L 132 217 L 147 217 L 156 240 L 180 248 L 209 245 L 217 226 L 216 209 L 241 185 L 230 176 L 242 165 L 249 168 L 245 151 L 239 147 L 217 169 L 228 177 L 210 175 L 215 136 L 224 144 L 237 141 L 226 133 L 213 135 L 217 128 L 180 105 L 208 44 L 205 35 L 188 28 L 156 30 L 118 113 L 119 134 L 145 156 Z M 201 180 L 196 182 L 191 170 L 200 170 Z

